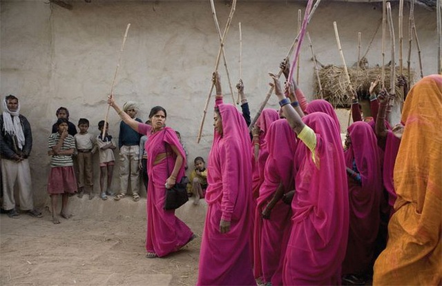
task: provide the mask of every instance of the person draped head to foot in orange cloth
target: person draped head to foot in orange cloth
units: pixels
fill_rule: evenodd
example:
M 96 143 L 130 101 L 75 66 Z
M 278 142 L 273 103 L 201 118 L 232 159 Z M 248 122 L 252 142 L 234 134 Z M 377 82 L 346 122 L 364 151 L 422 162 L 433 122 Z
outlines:
M 425 76 L 405 100 L 394 165 L 397 198 L 373 285 L 442 283 L 442 76 Z

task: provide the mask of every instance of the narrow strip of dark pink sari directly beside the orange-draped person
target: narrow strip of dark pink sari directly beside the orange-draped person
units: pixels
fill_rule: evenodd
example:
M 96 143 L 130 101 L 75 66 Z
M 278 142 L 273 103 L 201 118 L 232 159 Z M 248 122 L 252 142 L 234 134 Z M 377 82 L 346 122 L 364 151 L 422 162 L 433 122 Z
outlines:
M 396 156 L 398 156 L 401 139 L 394 136 L 391 130 L 388 130 L 387 141 L 385 142 L 385 153 L 383 162 L 383 183 L 388 192 L 388 205 L 390 205 L 390 216 L 394 212 L 394 202 L 396 201 L 396 191 L 394 191 L 393 172 Z

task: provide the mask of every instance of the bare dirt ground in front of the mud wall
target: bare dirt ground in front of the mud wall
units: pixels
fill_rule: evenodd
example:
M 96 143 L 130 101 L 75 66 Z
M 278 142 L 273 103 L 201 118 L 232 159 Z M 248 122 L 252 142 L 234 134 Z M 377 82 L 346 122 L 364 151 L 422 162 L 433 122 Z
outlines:
M 206 204 L 176 211 L 198 236 L 179 252 L 148 259 L 146 199 L 70 198 L 69 220 L 0 216 L 0 285 L 195 285 Z

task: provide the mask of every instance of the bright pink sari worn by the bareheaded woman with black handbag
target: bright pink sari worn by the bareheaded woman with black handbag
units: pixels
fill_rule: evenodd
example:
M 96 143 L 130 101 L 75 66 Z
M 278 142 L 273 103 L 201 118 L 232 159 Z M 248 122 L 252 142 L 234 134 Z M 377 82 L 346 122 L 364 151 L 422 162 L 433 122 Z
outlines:
M 150 134 L 151 126 L 142 124 L 138 126 L 138 132 L 141 134 Z M 163 130 L 151 134 L 146 141 L 146 151 L 148 156 L 148 186 L 147 186 L 147 234 L 146 250 L 157 254 L 157 256 L 166 256 L 175 252 L 189 242 L 192 231 L 189 227 L 175 216 L 174 210 L 163 210 L 164 200 L 166 199 L 166 179 L 169 177 L 175 165 L 175 154 L 171 151 L 170 145 L 179 150 L 181 156 L 186 160 L 186 155 L 178 141 L 175 131 L 170 127 L 164 127 Z M 153 165 L 157 154 L 166 152 L 173 153 L 166 159 Z M 169 164 L 169 173 L 168 165 Z M 177 181 L 180 181 L 184 175 L 184 165 L 182 164 Z

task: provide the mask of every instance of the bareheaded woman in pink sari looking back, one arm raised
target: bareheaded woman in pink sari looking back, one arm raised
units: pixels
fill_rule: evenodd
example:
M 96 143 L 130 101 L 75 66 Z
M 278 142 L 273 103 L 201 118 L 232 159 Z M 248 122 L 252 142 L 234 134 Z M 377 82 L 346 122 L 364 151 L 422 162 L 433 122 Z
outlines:
M 175 216 L 175 210 L 164 210 L 166 187 L 171 188 L 184 176 L 186 158 L 175 130 L 166 127 L 166 110 L 161 106 L 152 108 L 149 114 L 151 125 L 131 119 L 108 97 L 117 114 L 133 130 L 148 136 L 146 152 L 148 158 L 147 187 L 147 258 L 166 256 L 176 252 L 195 238 L 191 229 Z M 172 167 L 173 166 L 173 167 Z

